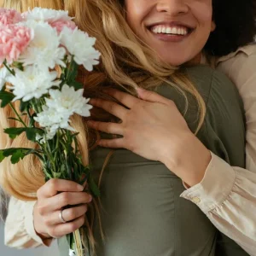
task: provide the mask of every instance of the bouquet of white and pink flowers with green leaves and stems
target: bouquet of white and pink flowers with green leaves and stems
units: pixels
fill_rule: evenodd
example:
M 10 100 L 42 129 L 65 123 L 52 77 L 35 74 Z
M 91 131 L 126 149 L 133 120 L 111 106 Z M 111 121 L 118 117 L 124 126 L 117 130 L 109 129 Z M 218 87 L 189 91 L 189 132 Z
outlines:
M 1 108 L 9 105 L 15 113 L 11 119 L 20 123 L 4 132 L 11 139 L 25 132 L 28 140 L 38 144 L 37 149 L 1 149 L 0 162 L 10 157 L 16 164 L 34 154 L 42 163 L 46 181 L 63 178 L 87 183 L 90 193 L 99 196 L 90 167 L 83 165 L 78 132 L 70 121 L 73 114 L 90 116 L 92 107 L 76 78 L 80 65 L 90 72 L 98 64 L 95 42 L 66 11 L 36 8 L 20 14 L 0 9 Z M 69 241 L 70 255 L 84 255 L 79 230 L 69 235 Z

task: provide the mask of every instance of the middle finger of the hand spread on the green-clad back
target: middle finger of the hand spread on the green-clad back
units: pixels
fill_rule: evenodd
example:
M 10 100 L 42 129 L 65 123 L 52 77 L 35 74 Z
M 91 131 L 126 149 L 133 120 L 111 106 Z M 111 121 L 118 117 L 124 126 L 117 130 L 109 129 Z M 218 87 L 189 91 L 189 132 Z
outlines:
M 91 99 L 90 104 L 94 107 L 102 108 L 106 110 L 108 113 L 112 113 L 119 119 L 125 118 L 125 115 L 128 111 L 126 108 L 120 106 L 118 103 L 109 102 L 102 99 Z

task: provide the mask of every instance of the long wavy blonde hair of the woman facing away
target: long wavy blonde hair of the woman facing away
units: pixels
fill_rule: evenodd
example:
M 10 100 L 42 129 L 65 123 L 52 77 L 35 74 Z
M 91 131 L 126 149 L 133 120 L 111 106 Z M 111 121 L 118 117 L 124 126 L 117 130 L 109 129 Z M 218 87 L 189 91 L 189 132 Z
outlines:
M 198 129 L 206 113 L 205 103 L 194 85 L 183 73 L 155 58 L 156 53 L 145 45 L 125 21 L 124 1 L 119 0 L 0 0 L 4 8 L 26 11 L 36 6 L 50 9 L 67 9 L 75 17 L 79 28 L 96 38 L 96 49 L 102 53 L 101 64 L 93 73 L 81 69 L 79 79 L 86 84 L 84 94 L 90 97 L 106 97 L 102 93 L 105 86 L 122 88 L 136 95 L 137 86 L 145 89 L 157 88 L 163 82 L 175 87 L 184 97 L 195 96 L 200 109 Z M 108 85 L 107 85 L 108 84 Z M 16 106 L 18 108 L 18 106 Z M 187 105 L 188 108 L 188 105 Z M 3 128 L 18 126 L 10 108 L 0 109 L 0 148 L 27 147 L 34 144 L 25 136 L 15 140 L 3 133 Z M 89 163 L 88 138 L 90 133 L 86 122 L 79 116 L 73 117 L 73 127 L 79 131 L 79 145 L 84 165 Z M 87 145 L 87 147 L 84 147 Z M 44 173 L 40 162 L 27 156 L 19 164 L 11 165 L 9 160 L 0 166 L 0 181 L 9 195 L 23 201 L 37 200 L 36 191 L 44 185 Z M 91 242 L 93 243 L 92 233 Z

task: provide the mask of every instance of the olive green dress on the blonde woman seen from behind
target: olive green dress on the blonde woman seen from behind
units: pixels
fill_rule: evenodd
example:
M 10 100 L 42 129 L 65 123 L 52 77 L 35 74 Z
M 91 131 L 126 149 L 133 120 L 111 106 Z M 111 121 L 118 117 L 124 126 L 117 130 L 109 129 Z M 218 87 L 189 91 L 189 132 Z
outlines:
M 236 86 L 209 67 L 187 67 L 207 105 L 205 122 L 197 137 L 232 166 L 245 166 L 244 111 Z M 183 113 L 181 94 L 163 84 L 157 92 L 172 99 Z M 198 109 L 189 96 L 184 118 L 191 131 Z M 109 148 L 90 154 L 96 179 Z M 188 170 L 189 172 L 189 170 Z M 161 162 L 147 160 L 126 149 L 113 153 L 102 177 L 102 241 L 95 226 L 97 256 L 241 256 L 248 255 L 221 234 L 191 201 L 180 197 L 183 183 Z M 68 255 L 67 240 L 59 241 L 61 256 Z

